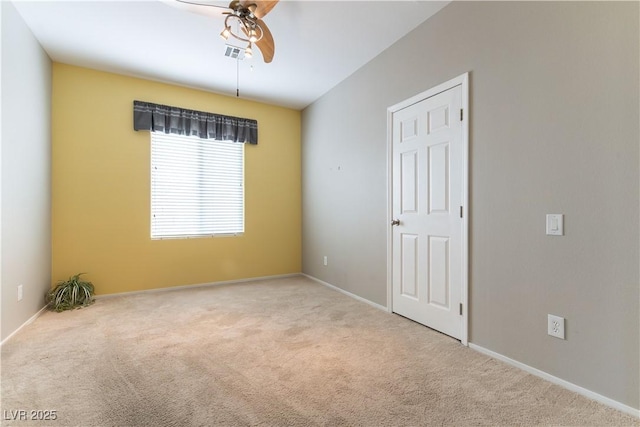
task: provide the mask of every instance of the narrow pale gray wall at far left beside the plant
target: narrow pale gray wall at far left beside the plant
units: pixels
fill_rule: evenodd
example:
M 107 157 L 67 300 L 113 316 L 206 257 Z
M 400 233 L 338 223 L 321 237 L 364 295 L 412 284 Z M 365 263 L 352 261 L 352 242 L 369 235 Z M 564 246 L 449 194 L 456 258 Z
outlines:
M 51 285 L 51 61 L 13 4 L 0 3 L 4 340 L 44 306 Z

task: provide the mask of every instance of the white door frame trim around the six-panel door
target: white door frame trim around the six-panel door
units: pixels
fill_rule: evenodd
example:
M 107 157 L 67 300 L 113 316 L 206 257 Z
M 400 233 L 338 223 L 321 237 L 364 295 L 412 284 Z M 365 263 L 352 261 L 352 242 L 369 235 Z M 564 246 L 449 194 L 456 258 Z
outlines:
M 469 344 L 469 73 L 439 84 L 387 108 L 387 311 L 393 312 L 393 114 L 456 86 L 462 89 L 462 330 L 460 342 Z M 454 113 L 455 114 L 455 113 Z

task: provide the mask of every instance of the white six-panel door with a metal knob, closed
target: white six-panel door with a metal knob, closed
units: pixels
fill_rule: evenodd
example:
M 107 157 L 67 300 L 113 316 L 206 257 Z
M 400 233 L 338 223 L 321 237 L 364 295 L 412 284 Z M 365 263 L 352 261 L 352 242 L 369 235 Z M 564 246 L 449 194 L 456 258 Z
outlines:
M 393 312 L 466 344 L 463 130 L 460 84 L 393 112 L 391 280 Z

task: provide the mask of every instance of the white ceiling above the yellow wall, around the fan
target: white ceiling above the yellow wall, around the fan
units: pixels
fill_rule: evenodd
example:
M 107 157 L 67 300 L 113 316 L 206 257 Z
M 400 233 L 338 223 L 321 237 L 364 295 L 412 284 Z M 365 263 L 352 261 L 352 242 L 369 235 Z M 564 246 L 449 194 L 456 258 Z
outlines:
M 53 61 L 233 96 L 239 80 L 242 98 L 302 109 L 449 3 L 282 0 L 264 18 L 276 44 L 265 64 L 224 56 L 224 9 L 173 1 L 14 4 Z

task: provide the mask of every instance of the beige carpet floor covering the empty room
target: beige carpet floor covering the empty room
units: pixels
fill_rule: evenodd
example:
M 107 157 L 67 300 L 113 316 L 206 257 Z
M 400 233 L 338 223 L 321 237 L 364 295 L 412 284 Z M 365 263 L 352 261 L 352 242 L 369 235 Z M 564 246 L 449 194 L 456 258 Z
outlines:
M 304 277 L 47 312 L 1 379 L 7 426 L 640 425 Z

